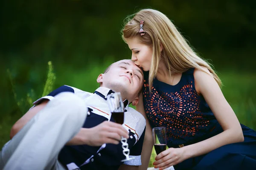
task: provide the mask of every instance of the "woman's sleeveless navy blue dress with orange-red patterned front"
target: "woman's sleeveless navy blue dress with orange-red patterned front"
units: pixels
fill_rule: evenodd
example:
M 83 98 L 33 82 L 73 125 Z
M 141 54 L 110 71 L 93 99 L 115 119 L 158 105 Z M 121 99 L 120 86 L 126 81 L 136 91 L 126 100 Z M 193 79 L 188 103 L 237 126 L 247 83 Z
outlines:
M 151 127 L 166 127 L 168 147 L 194 144 L 223 132 L 203 96 L 195 90 L 194 70 L 182 74 L 177 85 L 157 79 L 151 94 L 144 72 L 143 103 Z M 175 165 L 175 170 L 256 170 L 256 131 L 241 125 L 244 142 L 227 144 Z

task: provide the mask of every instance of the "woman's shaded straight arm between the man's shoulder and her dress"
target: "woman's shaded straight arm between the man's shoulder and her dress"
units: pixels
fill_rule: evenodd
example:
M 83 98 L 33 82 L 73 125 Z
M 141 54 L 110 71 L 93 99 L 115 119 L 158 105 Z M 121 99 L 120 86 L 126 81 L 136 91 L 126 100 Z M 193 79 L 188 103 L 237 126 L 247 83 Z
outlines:
M 142 153 L 141 153 L 141 163 L 140 170 L 146 170 L 148 168 L 148 164 L 150 161 L 150 156 L 152 153 L 153 148 L 153 137 L 152 137 L 152 128 L 150 127 L 149 121 L 147 119 L 144 106 L 143 106 L 143 94 L 140 94 L 139 96 L 139 103 L 136 106 L 136 110 L 140 112 L 144 118 L 146 119 L 146 130 L 145 130 L 145 137 L 142 147 Z

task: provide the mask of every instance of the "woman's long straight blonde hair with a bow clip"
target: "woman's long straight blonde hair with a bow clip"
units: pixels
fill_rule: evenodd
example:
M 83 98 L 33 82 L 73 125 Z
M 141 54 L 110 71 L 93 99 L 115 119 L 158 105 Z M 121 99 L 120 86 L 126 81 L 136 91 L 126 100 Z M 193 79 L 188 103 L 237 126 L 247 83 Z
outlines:
M 138 33 L 141 20 L 144 20 L 143 30 L 145 35 L 143 36 Z M 141 43 L 150 45 L 153 49 L 148 77 L 150 90 L 153 79 L 157 76 L 160 59 L 163 59 L 164 63 L 166 63 L 170 75 L 171 71 L 183 73 L 189 68 L 198 68 L 204 71 L 201 67 L 205 67 L 212 74 L 218 85 L 222 85 L 221 80 L 210 64 L 193 51 L 188 42 L 186 42 L 186 39 L 165 14 L 154 9 L 142 9 L 128 16 L 125 19 L 124 25 L 122 29 L 122 39 L 124 41 L 128 38 L 138 37 Z M 163 45 L 162 52 L 160 50 L 160 43 Z

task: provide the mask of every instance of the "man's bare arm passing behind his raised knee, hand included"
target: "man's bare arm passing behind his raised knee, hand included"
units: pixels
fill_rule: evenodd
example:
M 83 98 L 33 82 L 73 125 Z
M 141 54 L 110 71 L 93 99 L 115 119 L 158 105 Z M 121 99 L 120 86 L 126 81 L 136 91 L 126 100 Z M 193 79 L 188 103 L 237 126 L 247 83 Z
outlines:
M 45 99 L 39 105 L 31 108 L 26 114 L 24 114 L 13 126 L 10 133 L 12 139 L 23 126 L 29 122 L 39 111 L 41 111 L 49 102 L 49 99 Z M 53 113 L 54 114 L 54 113 Z M 105 121 L 100 125 L 93 128 L 81 128 L 79 133 L 71 139 L 68 145 L 88 144 L 90 146 L 101 146 L 104 143 L 118 144 L 121 136 L 128 138 L 128 131 L 125 130 L 122 125 L 114 122 Z

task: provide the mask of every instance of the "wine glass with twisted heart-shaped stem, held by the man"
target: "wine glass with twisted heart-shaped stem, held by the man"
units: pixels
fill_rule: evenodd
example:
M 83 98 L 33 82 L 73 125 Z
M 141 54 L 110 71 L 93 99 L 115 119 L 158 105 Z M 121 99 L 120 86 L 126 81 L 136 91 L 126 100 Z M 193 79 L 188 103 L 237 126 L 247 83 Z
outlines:
M 115 120 L 116 123 L 123 124 L 124 123 L 124 112 L 125 112 L 125 107 L 122 102 L 122 96 L 119 92 L 117 93 L 112 93 L 107 96 L 107 101 L 108 101 L 108 107 L 111 112 L 111 116 Z M 128 161 L 132 158 L 129 158 L 130 150 L 128 148 L 128 143 L 127 139 L 122 137 L 121 139 L 122 143 L 122 149 L 123 149 L 123 154 L 125 156 L 125 159 L 122 161 Z

